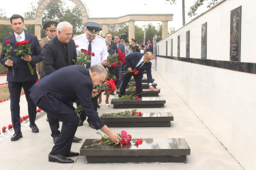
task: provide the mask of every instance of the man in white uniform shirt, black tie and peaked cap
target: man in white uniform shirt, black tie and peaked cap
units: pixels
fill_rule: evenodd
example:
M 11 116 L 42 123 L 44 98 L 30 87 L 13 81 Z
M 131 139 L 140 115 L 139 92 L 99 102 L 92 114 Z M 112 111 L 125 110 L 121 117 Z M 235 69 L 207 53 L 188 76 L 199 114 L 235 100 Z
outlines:
M 74 42 L 76 44 L 76 52 L 78 54 L 81 49 L 89 50 L 94 52 L 95 56 L 91 57 L 91 63 L 86 65 L 86 68 L 89 69 L 93 65 L 105 65 L 109 64 L 109 61 L 106 60 L 109 56 L 109 52 L 106 49 L 105 39 L 98 36 L 99 31 L 102 30 L 100 24 L 96 22 L 86 22 L 83 27 L 83 34 L 74 37 Z M 97 111 L 98 97 L 91 98 L 92 103 L 94 104 L 94 109 Z M 80 115 L 79 126 L 83 125 L 83 122 L 86 119 L 86 114 L 83 113 Z

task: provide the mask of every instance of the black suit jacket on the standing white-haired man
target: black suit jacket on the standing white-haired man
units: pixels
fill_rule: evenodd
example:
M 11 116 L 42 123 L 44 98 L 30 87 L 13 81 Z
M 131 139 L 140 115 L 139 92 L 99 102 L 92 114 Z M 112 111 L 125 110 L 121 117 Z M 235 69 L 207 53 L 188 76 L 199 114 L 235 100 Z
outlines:
M 72 59 L 76 60 L 76 47 L 74 46 L 74 40 L 70 39 L 67 46 L 68 64 L 74 65 L 74 62 L 72 61 Z M 66 66 L 61 44 L 57 36 L 53 37 L 53 39 L 44 45 L 44 48 L 42 49 L 42 60 L 44 65 L 41 78 Z

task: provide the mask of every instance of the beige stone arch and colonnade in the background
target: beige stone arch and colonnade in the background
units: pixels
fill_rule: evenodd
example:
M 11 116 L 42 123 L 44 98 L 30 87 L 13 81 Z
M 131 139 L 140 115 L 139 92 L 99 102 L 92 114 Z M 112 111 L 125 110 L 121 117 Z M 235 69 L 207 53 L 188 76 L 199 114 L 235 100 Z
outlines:
M 35 13 L 35 18 L 25 18 L 25 24 L 35 25 L 35 35 L 38 39 L 41 39 L 40 26 L 42 24 L 42 17 L 44 10 L 50 3 L 56 0 L 43 0 Z M 120 16 L 117 18 L 89 18 L 85 5 L 81 0 L 69 0 L 75 3 L 82 13 L 83 23 L 87 21 L 97 22 L 102 24 L 102 35 L 104 36 L 109 31 L 109 24 L 122 24 L 128 22 L 128 39 L 131 40 L 135 37 L 134 22 L 135 21 L 161 21 L 162 22 L 162 38 L 168 36 L 168 21 L 173 20 L 173 14 L 130 14 L 126 16 Z M 81 24 L 83 24 L 81 23 Z M 0 24 L 9 25 L 10 18 L 0 19 Z

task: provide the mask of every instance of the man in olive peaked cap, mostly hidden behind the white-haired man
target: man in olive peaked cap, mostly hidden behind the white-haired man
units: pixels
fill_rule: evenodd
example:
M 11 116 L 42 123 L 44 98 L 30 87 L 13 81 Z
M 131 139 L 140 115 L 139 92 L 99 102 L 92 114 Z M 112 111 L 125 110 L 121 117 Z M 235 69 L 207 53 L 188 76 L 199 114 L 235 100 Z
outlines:
M 44 24 L 43 29 L 46 30 L 46 37 L 39 40 L 41 50 L 47 41 L 56 36 L 57 24 L 58 22 L 52 20 Z M 42 73 L 42 61 L 36 64 L 36 71 L 38 71 L 39 74 Z

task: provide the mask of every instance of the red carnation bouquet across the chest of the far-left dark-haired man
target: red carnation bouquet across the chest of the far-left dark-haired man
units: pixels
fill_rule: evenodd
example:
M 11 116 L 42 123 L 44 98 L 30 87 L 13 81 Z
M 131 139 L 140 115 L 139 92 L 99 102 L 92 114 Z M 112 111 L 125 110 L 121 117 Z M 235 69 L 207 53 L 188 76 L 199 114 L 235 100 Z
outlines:
M 18 48 L 14 51 L 16 51 L 16 55 L 21 55 L 21 59 L 26 58 L 27 55 L 31 55 L 31 49 L 30 49 L 30 44 L 29 44 L 29 40 L 25 40 L 25 41 L 19 41 L 16 43 L 16 45 Z M 30 61 L 27 61 L 27 65 L 29 66 L 29 72 L 31 73 L 31 75 L 33 75 L 35 73 L 35 71 L 33 71 L 32 65 L 30 63 Z

